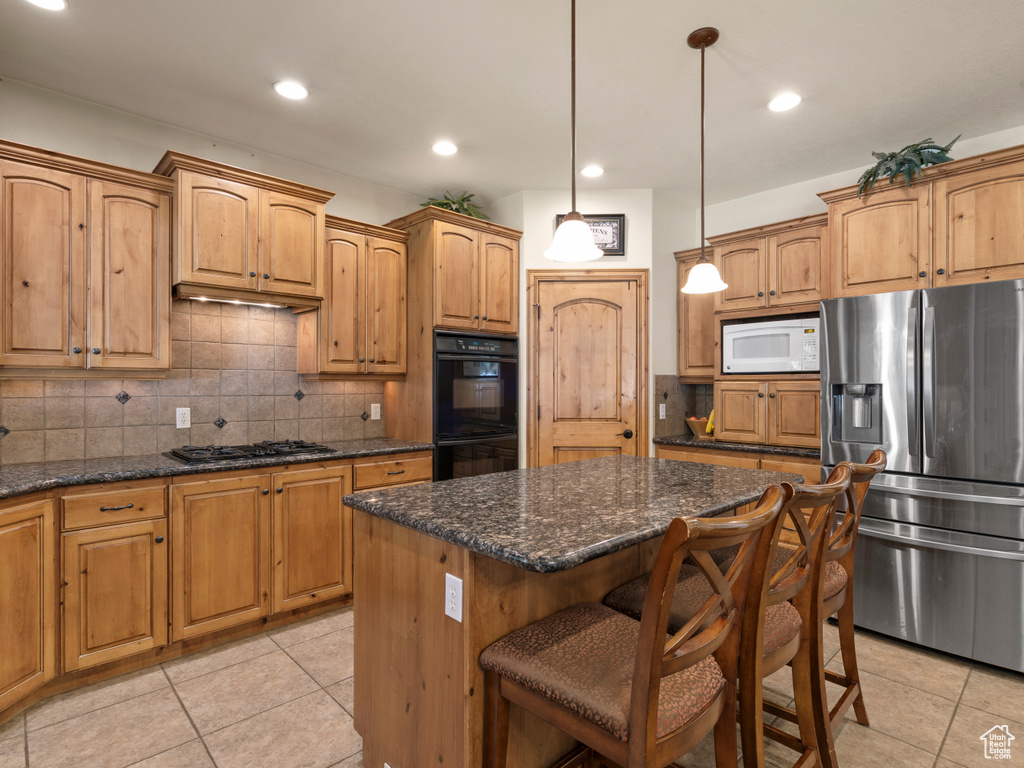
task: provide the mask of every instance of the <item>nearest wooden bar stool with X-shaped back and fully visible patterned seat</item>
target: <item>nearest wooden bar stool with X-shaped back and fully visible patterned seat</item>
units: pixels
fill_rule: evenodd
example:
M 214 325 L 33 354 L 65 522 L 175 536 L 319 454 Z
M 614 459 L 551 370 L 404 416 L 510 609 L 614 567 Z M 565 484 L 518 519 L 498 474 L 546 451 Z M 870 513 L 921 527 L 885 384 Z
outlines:
M 765 542 L 772 523 L 792 496 L 792 487 L 775 485 L 748 515 L 673 520 L 639 622 L 599 603 L 581 603 L 484 649 L 484 766 L 506 765 L 509 702 L 624 768 L 663 768 L 712 729 L 718 765 L 735 766 L 736 630 L 749 585 L 768 570 Z M 738 554 L 723 573 L 708 550 L 724 546 L 738 546 Z M 669 636 L 687 555 L 695 557 L 709 597 Z

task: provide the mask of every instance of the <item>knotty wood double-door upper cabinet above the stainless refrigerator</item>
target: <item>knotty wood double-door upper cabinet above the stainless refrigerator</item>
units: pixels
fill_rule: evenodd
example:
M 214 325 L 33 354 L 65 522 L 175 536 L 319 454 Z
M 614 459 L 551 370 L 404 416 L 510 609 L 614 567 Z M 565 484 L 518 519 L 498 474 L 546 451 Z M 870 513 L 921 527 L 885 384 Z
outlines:
M 1024 147 L 823 193 L 836 296 L 1024 278 Z

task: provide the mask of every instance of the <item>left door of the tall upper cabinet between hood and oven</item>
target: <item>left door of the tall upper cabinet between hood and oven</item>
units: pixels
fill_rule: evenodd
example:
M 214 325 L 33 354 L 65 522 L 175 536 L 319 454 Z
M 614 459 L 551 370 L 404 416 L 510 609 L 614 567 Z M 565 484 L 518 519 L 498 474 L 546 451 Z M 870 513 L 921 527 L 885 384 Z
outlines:
M 358 374 L 366 370 L 367 238 L 327 230 L 326 291 L 321 305 L 321 370 Z

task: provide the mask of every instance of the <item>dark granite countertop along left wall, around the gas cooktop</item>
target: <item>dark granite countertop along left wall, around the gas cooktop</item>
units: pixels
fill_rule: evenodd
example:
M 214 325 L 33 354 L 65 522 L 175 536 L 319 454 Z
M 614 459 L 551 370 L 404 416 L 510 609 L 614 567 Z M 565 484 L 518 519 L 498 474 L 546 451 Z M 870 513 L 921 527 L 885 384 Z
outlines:
M 0 499 L 66 485 L 88 485 L 96 482 L 143 480 L 148 477 L 171 477 L 232 469 L 279 467 L 285 464 L 306 464 L 325 460 L 358 459 L 366 456 L 387 456 L 412 451 L 433 451 L 429 442 L 412 442 L 391 437 L 325 442 L 334 453 L 321 452 L 301 456 L 261 456 L 232 459 L 215 464 L 185 464 L 163 454 L 126 456 L 83 461 L 37 462 L 0 467 Z

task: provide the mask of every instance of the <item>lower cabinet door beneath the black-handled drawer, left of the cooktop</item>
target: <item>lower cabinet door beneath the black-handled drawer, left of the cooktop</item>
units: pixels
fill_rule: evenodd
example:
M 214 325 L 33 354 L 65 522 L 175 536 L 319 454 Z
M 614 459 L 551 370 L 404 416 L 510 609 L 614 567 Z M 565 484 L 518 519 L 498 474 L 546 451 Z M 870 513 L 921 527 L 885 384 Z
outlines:
M 63 536 L 65 671 L 167 644 L 167 520 Z

